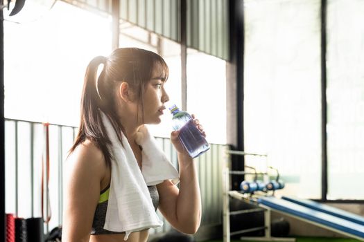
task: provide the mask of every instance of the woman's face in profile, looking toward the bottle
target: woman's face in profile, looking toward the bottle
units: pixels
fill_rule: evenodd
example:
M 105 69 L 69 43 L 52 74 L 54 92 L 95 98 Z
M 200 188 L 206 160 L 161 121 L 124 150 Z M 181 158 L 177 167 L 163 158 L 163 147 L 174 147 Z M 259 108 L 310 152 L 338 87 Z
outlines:
M 169 100 L 164 89 L 164 68 L 161 64 L 155 64 L 151 80 L 144 90 L 144 123 L 159 124 L 163 115 L 164 103 Z M 141 110 L 141 109 L 140 109 Z

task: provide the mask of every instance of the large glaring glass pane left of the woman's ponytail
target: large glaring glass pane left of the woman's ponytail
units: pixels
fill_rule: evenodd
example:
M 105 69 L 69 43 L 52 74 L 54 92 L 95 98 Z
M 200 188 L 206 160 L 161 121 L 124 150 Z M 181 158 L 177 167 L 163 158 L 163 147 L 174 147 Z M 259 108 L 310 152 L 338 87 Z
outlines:
M 4 21 L 4 44 L 6 118 L 77 126 L 87 64 L 110 53 L 110 19 L 56 1 L 37 18 Z

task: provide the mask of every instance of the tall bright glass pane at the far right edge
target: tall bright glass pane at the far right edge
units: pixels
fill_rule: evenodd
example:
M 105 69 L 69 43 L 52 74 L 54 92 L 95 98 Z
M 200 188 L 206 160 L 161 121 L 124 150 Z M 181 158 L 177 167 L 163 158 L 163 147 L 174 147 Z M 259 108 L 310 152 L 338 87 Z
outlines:
M 364 199 L 364 1 L 328 1 L 329 199 Z

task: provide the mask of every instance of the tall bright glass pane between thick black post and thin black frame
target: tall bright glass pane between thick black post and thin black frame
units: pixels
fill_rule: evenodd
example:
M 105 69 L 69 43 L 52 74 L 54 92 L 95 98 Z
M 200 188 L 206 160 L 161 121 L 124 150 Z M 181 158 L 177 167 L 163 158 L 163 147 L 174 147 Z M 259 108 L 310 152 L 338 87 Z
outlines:
M 320 198 L 320 1 L 244 2 L 245 151 L 268 153 L 278 193 Z

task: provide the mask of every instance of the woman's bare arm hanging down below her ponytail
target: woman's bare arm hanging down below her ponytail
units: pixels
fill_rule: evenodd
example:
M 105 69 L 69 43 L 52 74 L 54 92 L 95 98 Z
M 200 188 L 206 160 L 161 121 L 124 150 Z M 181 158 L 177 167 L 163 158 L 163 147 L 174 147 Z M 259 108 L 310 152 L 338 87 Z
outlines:
M 104 173 L 103 154 L 94 145 L 79 145 L 67 160 L 62 225 L 65 241 L 89 241 Z

